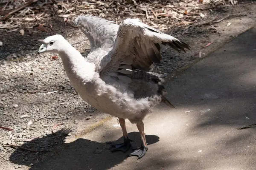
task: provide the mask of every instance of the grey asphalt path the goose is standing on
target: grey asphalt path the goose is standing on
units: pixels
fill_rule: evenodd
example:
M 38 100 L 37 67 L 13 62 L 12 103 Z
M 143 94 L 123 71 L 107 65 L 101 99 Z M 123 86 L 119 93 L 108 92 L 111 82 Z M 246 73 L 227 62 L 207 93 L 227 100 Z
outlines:
M 159 105 L 146 117 L 146 155 L 111 153 L 107 141 L 122 141 L 115 118 L 39 161 L 31 170 L 255 170 L 256 28 L 166 84 L 177 109 Z M 186 112 L 191 111 L 191 112 Z M 186 112 L 186 113 L 184 113 Z M 126 121 L 132 145 L 136 125 Z

